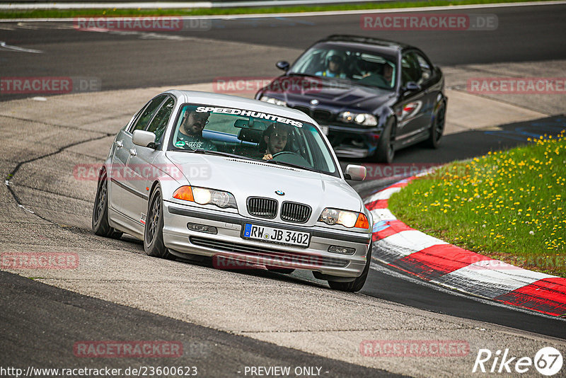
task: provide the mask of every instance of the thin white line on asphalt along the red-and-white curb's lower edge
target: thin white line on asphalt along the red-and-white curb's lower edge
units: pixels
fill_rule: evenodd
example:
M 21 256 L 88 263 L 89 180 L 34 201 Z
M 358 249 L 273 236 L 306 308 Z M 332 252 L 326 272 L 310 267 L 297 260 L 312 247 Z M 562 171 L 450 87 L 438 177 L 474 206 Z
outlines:
M 437 292 L 443 292 L 445 294 L 455 295 L 456 297 L 472 299 L 475 302 L 480 302 L 480 303 L 483 303 L 483 304 L 489 304 L 490 306 L 503 307 L 505 309 L 513 309 L 515 311 L 524 312 L 524 313 L 530 314 L 530 315 L 542 316 L 543 318 L 555 319 L 555 320 L 558 319 L 558 320 L 561 320 L 561 321 L 566 321 L 566 319 L 557 318 L 556 316 L 546 315 L 546 314 L 543 314 L 541 312 L 537 312 L 537 311 L 533 311 L 533 310 L 529 310 L 529 309 L 523 309 L 521 307 L 510 306 L 509 304 L 504 304 L 504 303 L 501 303 L 501 302 L 492 301 L 490 299 L 484 299 L 484 298 L 481 298 L 481 297 L 476 297 L 474 295 L 470 295 L 470 293 L 462 292 L 461 290 L 456 289 L 457 290 L 456 291 L 456 290 L 454 290 L 454 288 L 448 288 L 448 287 L 439 286 L 438 284 L 432 284 L 430 282 L 420 280 L 416 277 L 412 277 L 411 275 L 405 275 L 403 273 L 398 272 L 397 270 L 393 270 L 391 268 L 386 268 L 383 265 L 379 265 L 377 263 L 374 263 L 373 261 L 369 265 L 369 268 L 371 270 L 375 270 L 376 272 L 383 273 L 385 275 L 389 275 L 391 277 L 395 277 L 395 278 L 398 278 L 400 280 L 409 281 L 412 284 L 424 286 L 424 287 L 427 287 L 427 289 L 434 290 L 434 291 L 437 291 Z M 364 294 L 364 290 L 362 290 L 362 294 Z M 437 312 L 437 311 L 433 311 L 433 312 Z

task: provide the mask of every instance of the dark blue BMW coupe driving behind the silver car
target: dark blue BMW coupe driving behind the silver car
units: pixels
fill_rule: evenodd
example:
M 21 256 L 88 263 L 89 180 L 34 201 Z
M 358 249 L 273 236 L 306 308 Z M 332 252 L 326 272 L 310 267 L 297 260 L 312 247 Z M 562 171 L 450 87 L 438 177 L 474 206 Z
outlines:
M 255 98 L 302 110 L 338 156 L 391 163 L 396 149 L 439 146 L 444 77 L 424 52 L 399 42 L 332 35 L 308 48 Z

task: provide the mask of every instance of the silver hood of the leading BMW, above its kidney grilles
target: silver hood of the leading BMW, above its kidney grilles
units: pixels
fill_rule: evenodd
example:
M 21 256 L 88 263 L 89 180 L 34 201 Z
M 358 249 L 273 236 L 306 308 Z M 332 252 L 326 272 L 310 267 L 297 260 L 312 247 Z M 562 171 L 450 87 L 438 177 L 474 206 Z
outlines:
M 246 209 L 248 197 L 268 197 L 279 203 L 304 203 L 312 207 L 313 214 L 320 214 L 325 207 L 362 211 L 359 195 L 341 178 L 224 156 L 179 151 L 167 151 L 166 156 L 183 172 L 188 184 L 232 193 L 238 210 Z

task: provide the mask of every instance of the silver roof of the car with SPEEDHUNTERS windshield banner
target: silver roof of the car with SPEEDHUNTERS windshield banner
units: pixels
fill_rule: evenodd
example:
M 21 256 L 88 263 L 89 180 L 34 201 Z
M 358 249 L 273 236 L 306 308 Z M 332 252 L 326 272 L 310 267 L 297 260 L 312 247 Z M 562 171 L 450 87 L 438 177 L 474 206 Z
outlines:
M 299 110 L 266 103 L 265 101 L 252 100 L 250 98 L 231 96 L 222 93 L 180 91 L 178 89 L 171 89 L 164 93 L 171 93 L 173 96 L 187 103 L 202 103 L 203 105 L 217 105 L 229 108 L 246 108 L 248 110 L 272 113 L 275 115 L 281 115 L 282 117 L 294 118 L 296 120 L 302 120 L 309 123 L 314 122 L 312 118 L 308 117 L 308 115 Z

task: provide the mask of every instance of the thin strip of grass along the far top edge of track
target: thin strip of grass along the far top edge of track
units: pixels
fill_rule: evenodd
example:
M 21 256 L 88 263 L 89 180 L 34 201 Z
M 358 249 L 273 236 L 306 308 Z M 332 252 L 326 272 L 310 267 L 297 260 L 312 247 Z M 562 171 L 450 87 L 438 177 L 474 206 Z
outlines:
M 355 11 L 371 9 L 412 8 L 423 6 L 454 6 L 468 4 L 495 4 L 533 2 L 540 0 L 430 0 L 430 1 L 391 1 L 387 3 L 336 4 L 325 6 L 277 6 L 265 8 L 198 8 L 198 9 L 69 9 L 69 10 L 30 10 L 0 11 L 0 18 L 72 18 L 86 16 L 209 16 L 259 13 L 296 13 L 318 11 Z

